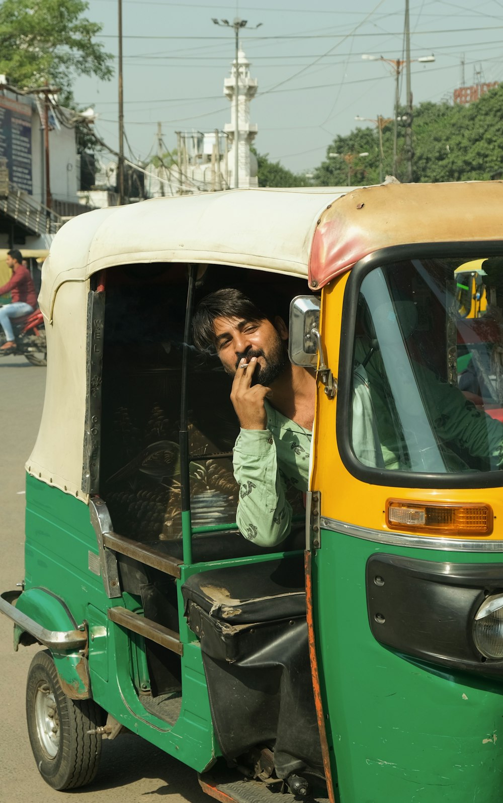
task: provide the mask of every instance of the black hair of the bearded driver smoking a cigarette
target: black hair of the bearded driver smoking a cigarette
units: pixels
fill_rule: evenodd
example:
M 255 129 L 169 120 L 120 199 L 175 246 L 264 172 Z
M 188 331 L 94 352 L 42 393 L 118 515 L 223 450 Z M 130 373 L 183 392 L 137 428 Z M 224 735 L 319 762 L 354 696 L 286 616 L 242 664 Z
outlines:
M 222 287 L 205 296 L 199 304 L 192 319 L 192 340 L 196 349 L 204 351 L 215 345 L 213 321 L 215 318 L 239 318 L 257 322 L 270 320 L 274 324 L 276 316 L 282 310 L 272 310 L 271 293 L 262 292 L 260 300 L 239 290 L 238 287 Z

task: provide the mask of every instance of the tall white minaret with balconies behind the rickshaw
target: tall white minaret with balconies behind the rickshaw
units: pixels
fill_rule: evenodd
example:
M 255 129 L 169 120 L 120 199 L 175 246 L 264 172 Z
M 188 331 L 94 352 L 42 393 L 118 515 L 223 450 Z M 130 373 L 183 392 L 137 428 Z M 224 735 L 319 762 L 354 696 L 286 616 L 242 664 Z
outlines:
M 235 71 L 238 69 L 238 180 L 239 187 L 256 187 L 256 158 L 250 153 L 250 144 L 255 139 L 258 126 L 250 123 L 250 100 L 256 95 L 258 81 L 250 78 L 250 62 L 244 52 L 239 50 L 238 63 L 232 63 L 231 77 L 223 81 L 223 93 L 231 101 L 231 122 L 223 130 L 227 133 L 229 151 L 227 153 L 228 185 L 235 187 Z

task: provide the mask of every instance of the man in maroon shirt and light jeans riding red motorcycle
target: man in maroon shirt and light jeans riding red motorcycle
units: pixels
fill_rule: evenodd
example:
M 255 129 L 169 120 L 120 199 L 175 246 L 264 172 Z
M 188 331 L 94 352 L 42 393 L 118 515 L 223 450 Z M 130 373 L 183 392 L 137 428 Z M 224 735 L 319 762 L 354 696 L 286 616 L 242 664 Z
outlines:
M 0 352 L 10 354 L 16 350 L 11 320 L 22 318 L 33 312 L 37 305 L 37 294 L 30 271 L 22 264 L 21 251 L 16 249 L 7 251 L 6 262 L 12 275 L 9 281 L 0 287 L 0 296 L 10 292 L 12 303 L 0 308 L 0 326 L 6 336 L 6 343 L 0 347 Z

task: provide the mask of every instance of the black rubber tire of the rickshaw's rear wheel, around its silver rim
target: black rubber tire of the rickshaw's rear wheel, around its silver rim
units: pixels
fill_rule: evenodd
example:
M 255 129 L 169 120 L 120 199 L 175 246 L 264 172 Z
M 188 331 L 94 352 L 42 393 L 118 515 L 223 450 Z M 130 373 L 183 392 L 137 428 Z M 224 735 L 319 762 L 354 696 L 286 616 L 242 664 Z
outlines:
M 55 700 L 55 715 L 59 720 L 55 756 L 47 752 L 37 727 L 35 707 L 41 688 Z M 35 654 L 27 678 L 28 736 L 39 772 L 53 789 L 76 789 L 94 779 L 100 764 L 102 737 L 88 731 L 100 725 L 103 716 L 103 709 L 93 700 L 73 700 L 64 694 L 49 650 Z

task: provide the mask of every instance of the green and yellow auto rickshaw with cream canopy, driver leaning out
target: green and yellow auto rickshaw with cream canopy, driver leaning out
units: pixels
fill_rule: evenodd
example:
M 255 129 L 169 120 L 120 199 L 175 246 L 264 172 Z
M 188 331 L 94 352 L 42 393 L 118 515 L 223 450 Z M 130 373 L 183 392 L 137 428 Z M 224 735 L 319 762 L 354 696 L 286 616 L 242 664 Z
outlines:
M 49 785 L 90 783 L 128 730 L 220 801 L 499 803 L 503 424 L 459 386 L 456 270 L 498 265 L 502 211 L 499 181 L 235 190 L 56 234 L 26 574 L 0 600 L 14 649 L 45 648 Z M 317 377 L 309 491 L 268 549 L 235 525 L 229 377 L 190 340 L 237 285 Z

